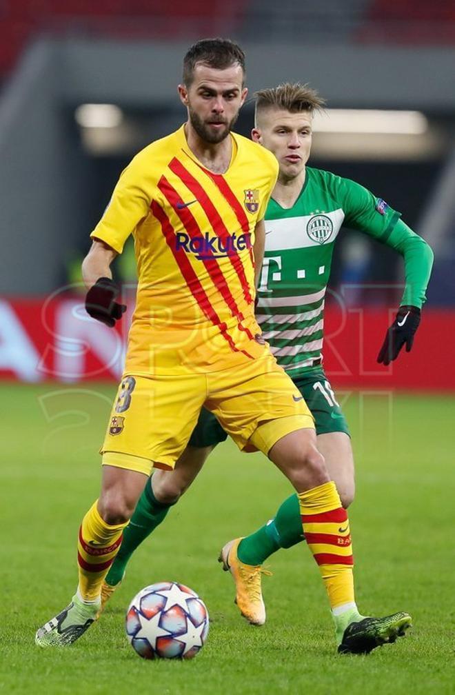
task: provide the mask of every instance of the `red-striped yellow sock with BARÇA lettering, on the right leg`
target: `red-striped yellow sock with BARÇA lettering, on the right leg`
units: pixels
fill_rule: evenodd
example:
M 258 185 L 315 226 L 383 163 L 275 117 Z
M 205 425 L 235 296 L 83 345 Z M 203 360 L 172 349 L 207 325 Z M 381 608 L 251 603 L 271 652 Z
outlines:
M 355 607 L 351 534 L 334 482 L 299 494 L 304 536 L 319 566 L 331 609 Z

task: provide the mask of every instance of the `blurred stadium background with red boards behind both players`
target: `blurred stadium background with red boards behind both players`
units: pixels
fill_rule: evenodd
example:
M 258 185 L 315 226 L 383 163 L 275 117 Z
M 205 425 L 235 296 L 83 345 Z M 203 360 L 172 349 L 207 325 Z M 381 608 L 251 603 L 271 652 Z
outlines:
M 133 154 L 183 121 L 185 50 L 224 35 L 245 48 L 250 94 L 293 80 L 320 90 L 310 163 L 386 199 L 436 255 L 415 350 L 379 369 L 402 262 L 345 230 L 326 319 L 333 383 L 455 389 L 453 1 L 3 0 L 0 35 L 2 379 L 121 373 L 123 336 L 81 307 L 88 234 Z M 251 122 L 249 104 L 238 130 Z M 115 272 L 133 296 L 131 247 Z

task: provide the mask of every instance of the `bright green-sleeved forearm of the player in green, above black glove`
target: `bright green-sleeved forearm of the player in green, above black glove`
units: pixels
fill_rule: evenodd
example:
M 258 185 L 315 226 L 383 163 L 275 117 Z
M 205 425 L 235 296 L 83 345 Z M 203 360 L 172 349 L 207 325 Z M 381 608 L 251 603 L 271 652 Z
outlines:
M 427 299 L 426 291 L 433 266 L 431 247 L 402 220 L 397 222 L 386 243 L 404 258 L 406 284 L 401 305 L 421 309 Z

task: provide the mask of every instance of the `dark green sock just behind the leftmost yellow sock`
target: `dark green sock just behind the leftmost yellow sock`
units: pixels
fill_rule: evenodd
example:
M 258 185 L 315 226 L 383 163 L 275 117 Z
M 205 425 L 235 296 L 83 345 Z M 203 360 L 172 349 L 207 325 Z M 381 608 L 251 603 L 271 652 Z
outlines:
M 115 556 L 115 560 L 106 576 L 106 583 L 111 587 L 122 581 L 126 565 L 131 555 L 142 541 L 156 529 L 163 521 L 169 507 L 163 502 L 158 502 L 151 487 L 151 479 L 147 480 L 144 491 L 139 498 L 138 504 L 131 516 L 130 523 L 123 532 L 122 545 Z

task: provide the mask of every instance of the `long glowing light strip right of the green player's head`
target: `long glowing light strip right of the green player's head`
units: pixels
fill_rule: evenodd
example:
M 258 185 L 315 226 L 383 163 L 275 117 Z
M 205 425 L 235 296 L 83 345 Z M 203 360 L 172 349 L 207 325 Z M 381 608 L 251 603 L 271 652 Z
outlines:
M 313 121 L 313 130 L 320 133 L 422 135 L 427 129 L 427 118 L 420 111 L 327 108 Z

